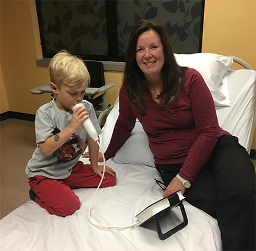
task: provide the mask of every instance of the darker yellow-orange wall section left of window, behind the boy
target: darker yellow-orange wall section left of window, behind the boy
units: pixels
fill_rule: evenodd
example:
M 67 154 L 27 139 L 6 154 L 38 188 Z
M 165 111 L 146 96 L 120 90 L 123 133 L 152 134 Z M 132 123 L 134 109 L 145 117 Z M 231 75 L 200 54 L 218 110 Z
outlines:
M 32 27 L 29 0 L 0 1 L 0 64 L 9 110 L 29 114 L 49 100 L 30 94 L 30 89 L 49 81 L 47 67 L 36 64 Z

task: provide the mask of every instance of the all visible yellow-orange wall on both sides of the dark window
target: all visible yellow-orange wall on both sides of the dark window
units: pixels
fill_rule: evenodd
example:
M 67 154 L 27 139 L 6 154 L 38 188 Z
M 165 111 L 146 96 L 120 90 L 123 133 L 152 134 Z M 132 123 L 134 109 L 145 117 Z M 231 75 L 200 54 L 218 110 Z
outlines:
M 205 0 L 203 52 L 235 55 L 256 69 L 254 43 L 255 0 Z M 41 57 L 35 0 L 0 1 L 0 114 L 6 111 L 35 114 L 50 100 L 30 89 L 48 83 L 48 68 L 37 66 Z M 123 74 L 105 72 L 108 103 L 118 97 Z M 252 148 L 256 149 L 256 139 Z

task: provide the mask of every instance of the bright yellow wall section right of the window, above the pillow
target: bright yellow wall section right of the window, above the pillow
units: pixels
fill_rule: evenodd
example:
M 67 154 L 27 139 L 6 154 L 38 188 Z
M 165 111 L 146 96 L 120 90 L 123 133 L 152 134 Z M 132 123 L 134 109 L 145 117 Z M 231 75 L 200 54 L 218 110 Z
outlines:
M 205 0 L 202 52 L 234 55 L 256 69 L 255 0 Z

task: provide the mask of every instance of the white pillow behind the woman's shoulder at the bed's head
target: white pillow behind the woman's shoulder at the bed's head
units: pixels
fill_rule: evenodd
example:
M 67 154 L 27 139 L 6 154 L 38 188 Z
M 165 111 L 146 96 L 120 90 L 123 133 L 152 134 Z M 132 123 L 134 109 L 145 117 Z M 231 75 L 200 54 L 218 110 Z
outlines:
M 215 53 L 174 54 L 180 66 L 196 69 L 204 78 L 216 106 L 230 106 L 227 86 L 222 78 L 233 63 L 233 58 Z

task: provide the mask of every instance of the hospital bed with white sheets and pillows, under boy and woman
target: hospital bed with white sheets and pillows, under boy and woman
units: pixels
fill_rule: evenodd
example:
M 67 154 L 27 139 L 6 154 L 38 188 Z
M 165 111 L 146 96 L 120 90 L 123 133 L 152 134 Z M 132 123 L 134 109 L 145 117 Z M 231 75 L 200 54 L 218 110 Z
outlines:
M 215 100 L 219 124 L 237 136 L 247 151 L 255 126 L 256 72 L 252 69 L 230 70 L 232 57 L 211 53 L 176 55 L 180 65 L 197 69 L 205 78 Z M 249 66 L 246 66 L 249 67 Z M 212 81 L 212 83 L 211 83 Z M 118 117 L 119 102 L 102 128 L 102 150 L 108 146 Z M 88 159 L 81 158 L 89 163 Z M 148 138 L 136 122 L 129 139 L 107 165 L 117 173 L 115 187 L 100 188 L 91 208 L 91 220 L 101 225 L 129 225 L 144 208 L 163 198 L 154 179 L 160 175 L 148 146 Z M 34 201 L 27 201 L 0 221 L 1 251 L 99 251 L 99 250 L 222 250 L 216 219 L 184 201 L 188 224 L 162 241 L 154 221 L 127 229 L 99 229 L 88 221 L 88 210 L 96 188 L 80 188 L 81 207 L 74 215 L 62 218 L 49 215 Z M 165 213 L 163 232 L 181 221 L 179 207 Z

